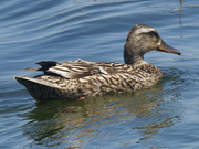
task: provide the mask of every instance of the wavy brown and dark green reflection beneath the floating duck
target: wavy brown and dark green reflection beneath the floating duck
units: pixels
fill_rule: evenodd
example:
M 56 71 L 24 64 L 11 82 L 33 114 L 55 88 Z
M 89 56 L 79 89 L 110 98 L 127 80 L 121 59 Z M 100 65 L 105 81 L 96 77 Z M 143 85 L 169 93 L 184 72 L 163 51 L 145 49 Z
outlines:
M 52 140 L 53 146 L 81 147 L 102 136 L 107 141 L 122 139 L 124 132 L 128 143 L 150 142 L 161 129 L 171 127 L 179 118 L 172 97 L 180 93 L 165 96 L 167 88 L 163 89 L 172 79 L 180 83 L 179 75 L 166 74 L 167 78 L 155 87 L 135 93 L 93 97 L 75 104 L 66 100 L 40 104 L 29 115 L 32 123 L 23 127 L 24 135 L 36 143 L 45 141 L 46 147 L 52 146 Z M 171 97 L 170 103 L 165 102 L 168 97 Z M 104 131 L 106 135 L 101 134 Z

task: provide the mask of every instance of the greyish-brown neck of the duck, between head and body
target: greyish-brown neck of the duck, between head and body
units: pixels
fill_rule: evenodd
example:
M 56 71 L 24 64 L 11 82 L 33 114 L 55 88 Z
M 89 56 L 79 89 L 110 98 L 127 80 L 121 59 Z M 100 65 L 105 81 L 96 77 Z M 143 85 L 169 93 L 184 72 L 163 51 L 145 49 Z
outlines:
M 146 63 L 144 60 L 144 54 L 140 51 L 140 47 L 135 47 L 135 46 L 128 46 L 125 44 L 124 46 L 124 61 L 125 64 L 129 65 L 140 65 Z

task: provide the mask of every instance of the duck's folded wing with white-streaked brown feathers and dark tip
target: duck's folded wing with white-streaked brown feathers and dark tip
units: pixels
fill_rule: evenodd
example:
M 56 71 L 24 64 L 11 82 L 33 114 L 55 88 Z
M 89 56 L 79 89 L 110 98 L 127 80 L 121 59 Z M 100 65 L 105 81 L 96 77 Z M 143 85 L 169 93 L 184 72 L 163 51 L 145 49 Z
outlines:
M 69 61 L 69 62 L 54 62 L 42 61 L 36 63 L 40 68 L 25 68 L 23 71 L 43 71 L 46 74 L 55 74 L 69 79 L 82 78 L 96 74 L 109 74 L 124 72 L 126 64 L 112 63 L 112 62 L 92 62 L 84 60 Z

